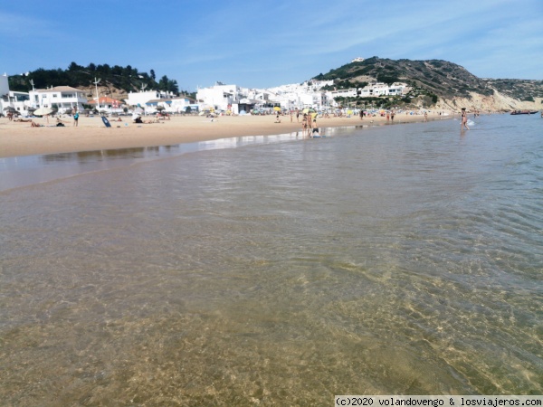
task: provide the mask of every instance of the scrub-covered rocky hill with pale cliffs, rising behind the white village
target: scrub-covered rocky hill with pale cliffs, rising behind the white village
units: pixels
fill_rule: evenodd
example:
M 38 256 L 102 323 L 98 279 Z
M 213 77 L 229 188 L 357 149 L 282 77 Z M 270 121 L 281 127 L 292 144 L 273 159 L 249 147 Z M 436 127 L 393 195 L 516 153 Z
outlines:
M 339 89 L 375 81 L 405 82 L 412 88 L 409 101 L 418 106 L 424 104 L 420 102 L 426 97 L 426 104 L 427 100 L 437 100 L 435 106 L 443 109 L 543 109 L 543 80 L 481 79 L 460 65 L 442 60 L 372 57 L 321 73 L 313 79 L 334 80 Z

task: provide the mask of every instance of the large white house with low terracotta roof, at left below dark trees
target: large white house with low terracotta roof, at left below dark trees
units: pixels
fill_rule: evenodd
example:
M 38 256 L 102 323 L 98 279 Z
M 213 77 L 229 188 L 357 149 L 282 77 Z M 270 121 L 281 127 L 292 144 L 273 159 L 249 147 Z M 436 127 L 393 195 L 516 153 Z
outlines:
M 31 90 L 29 103 L 33 108 L 57 108 L 59 113 L 66 110 L 83 109 L 83 103 L 87 103 L 83 90 L 71 88 L 70 86 L 56 86 L 49 89 Z

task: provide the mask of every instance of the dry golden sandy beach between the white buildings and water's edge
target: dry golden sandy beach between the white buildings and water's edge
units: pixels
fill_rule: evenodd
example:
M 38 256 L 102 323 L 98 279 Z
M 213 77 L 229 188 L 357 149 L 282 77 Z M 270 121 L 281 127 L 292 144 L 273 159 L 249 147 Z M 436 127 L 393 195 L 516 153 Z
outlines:
M 453 115 L 440 116 L 438 112 L 428 115 L 428 120 L 453 118 Z M 202 116 L 172 117 L 158 123 L 135 124 L 130 117 L 121 121 L 110 118 L 111 128 L 106 128 L 100 116 L 83 117 L 79 126 L 73 127 L 73 119 L 61 118 L 65 127 L 56 127 L 56 118 L 33 118 L 40 128 L 31 127 L 30 122 L 9 121 L 0 118 L 0 157 L 33 156 L 40 154 L 70 153 L 101 149 L 168 146 L 196 141 L 213 140 L 225 137 L 265 136 L 284 134 L 302 130 L 300 122 L 294 117 L 282 116 L 281 123 L 275 123 L 275 116 L 222 116 L 205 118 Z M 147 117 L 144 120 L 153 120 Z M 392 124 L 424 121 L 424 115 L 395 115 Z M 350 118 L 318 118 L 319 128 L 345 126 L 391 124 L 386 117 L 371 117 L 361 120 Z

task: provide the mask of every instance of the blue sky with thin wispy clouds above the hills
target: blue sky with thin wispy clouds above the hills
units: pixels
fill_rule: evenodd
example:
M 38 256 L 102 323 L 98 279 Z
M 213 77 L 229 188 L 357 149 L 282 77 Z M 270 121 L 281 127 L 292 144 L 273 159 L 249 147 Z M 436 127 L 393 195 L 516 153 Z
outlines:
M 543 0 L 0 3 L 0 74 L 93 62 L 154 70 L 181 90 L 264 88 L 378 56 L 543 80 Z

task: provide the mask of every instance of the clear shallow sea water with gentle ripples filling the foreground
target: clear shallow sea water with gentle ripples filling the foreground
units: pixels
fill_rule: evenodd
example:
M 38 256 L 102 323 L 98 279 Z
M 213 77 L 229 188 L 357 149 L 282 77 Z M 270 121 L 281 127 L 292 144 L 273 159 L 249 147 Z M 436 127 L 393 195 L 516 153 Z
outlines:
M 0 404 L 543 393 L 543 119 L 474 121 L 1 159 Z

